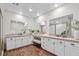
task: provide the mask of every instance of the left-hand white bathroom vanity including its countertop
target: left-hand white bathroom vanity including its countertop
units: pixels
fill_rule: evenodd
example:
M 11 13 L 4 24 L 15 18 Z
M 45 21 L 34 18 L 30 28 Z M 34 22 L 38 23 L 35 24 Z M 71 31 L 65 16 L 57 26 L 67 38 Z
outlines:
M 6 50 L 16 49 L 19 47 L 32 44 L 33 37 L 30 34 L 25 35 L 6 35 L 5 48 Z

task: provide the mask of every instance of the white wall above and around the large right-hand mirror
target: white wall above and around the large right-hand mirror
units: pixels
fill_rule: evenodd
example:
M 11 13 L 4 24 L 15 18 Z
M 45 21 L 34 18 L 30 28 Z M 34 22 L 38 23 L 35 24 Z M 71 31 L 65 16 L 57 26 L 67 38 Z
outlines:
M 65 16 L 65 15 L 69 15 L 69 14 L 73 14 L 73 20 L 74 19 L 78 19 L 79 20 L 79 4 L 66 4 L 66 5 L 63 5 L 55 10 L 52 10 L 50 12 L 47 12 L 45 13 L 44 15 L 41 15 L 43 17 L 43 19 L 41 19 L 42 21 L 43 20 L 50 20 L 50 19 L 54 19 L 54 18 L 58 18 L 58 17 L 62 17 L 62 16 Z M 39 21 L 39 18 L 38 17 L 37 20 Z M 48 27 L 49 29 L 49 27 Z M 49 30 L 47 29 L 47 32 L 49 32 Z

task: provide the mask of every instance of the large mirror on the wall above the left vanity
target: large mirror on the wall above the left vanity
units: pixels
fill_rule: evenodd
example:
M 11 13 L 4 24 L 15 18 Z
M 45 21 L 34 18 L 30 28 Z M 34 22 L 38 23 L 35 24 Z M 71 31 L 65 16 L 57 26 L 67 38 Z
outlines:
M 23 34 L 26 33 L 26 31 L 27 31 L 27 24 L 20 21 L 11 20 L 10 32 L 12 34 Z

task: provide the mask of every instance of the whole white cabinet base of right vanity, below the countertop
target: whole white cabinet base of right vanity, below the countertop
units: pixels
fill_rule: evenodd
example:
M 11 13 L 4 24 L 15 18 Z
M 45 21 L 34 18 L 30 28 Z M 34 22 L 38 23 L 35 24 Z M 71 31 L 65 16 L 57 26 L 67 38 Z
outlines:
M 79 43 L 76 42 L 42 37 L 41 47 L 59 56 L 79 56 Z

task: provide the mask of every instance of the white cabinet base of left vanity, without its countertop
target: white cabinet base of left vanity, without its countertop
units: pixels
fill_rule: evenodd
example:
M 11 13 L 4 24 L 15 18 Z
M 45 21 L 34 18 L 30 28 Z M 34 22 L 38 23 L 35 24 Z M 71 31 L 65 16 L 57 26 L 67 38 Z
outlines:
M 32 44 L 32 36 L 6 38 L 6 49 L 14 49 Z

